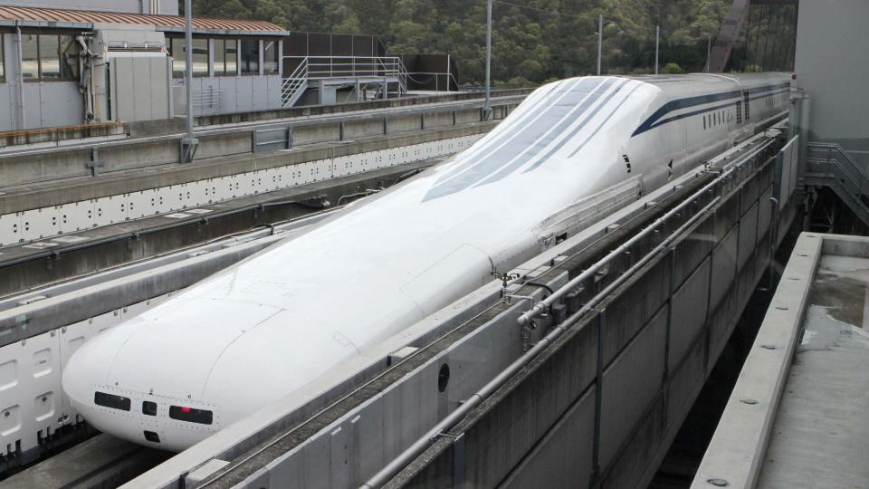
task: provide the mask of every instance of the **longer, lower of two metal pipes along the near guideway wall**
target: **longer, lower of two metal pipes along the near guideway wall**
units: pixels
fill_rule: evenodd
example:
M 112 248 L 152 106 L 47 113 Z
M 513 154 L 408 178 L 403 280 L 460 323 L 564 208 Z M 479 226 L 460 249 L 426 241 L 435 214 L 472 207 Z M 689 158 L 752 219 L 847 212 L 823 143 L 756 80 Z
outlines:
M 692 216 L 688 219 L 683 225 L 679 226 L 672 235 L 668 236 L 660 245 L 654 247 L 649 254 L 646 254 L 643 258 L 641 258 L 636 264 L 631 266 L 625 273 L 620 275 L 616 280 L 607 285 L 603 291 L 599 292 L 591 301 L 587 302 L 578 312 L 573 313 L 563 321 L 559 326 L 557 326 L 552 331 L 544 336 L 540 341 L 534 344 L 530 350 L 526 351 L 519 359 L 513 361 L 509 367 L 501 370 L 501 373 L 498 374 L 494 379 L 490 380 L 489 383 L 484 385 L 480 390 L 474 393 L 470 398 L 465 400 L 462 405 L 456 408 L 449 416 L 444 417 L 444 420 L 435 425 L 432 429 L 428 430 L 424 436 L 420 437 L 415 443 L 406 448 L 400 455 L 394 458 L 387 466 L 377 472 L 376 475 L 372 476 L 368 481 L 362 485 L 360 488 L 363 489 L 375 489 L 376 487 L 380 487 L 383 484 L 386 484 L 388 480 L 396 475 L 402 468 L 406 465 L 410 464 L 416 456 L 423 453 L 425 449 L 435 443 L 437 437 L 444 433 L 445 430 L 454 427 L 456 423 L 458 423 L 463 417 L 467 416 L 469 412 L 473 408 L 476 408 L 480 405 L 483 399 L 491 396 L 498 388 L 501 388 L 503 384 L 507 382 L 507 380 L 511 379 L 516 373 L 525 367 L 531 360 L 537 357 L 541 351 L 545 350 L 550 343 L 554 340 L 558 339 L 562 333 L 568 331 L 568 329 L 576 324 L 582 316 L 590 311 L 594 306 L 596 306 L 599 302 L 603 301 L 607 295 L 616 290 L 619 286 L 621 286 L 627 279 L 640 270 L 645 264 L 648 264 L 657 254 L 661 253 L 664 249 L 666 249 L 673 240 L 681 235 L 685 229 L 693 225 L 700 217 L 704 216 L 706 212 L 708 212 L 712 206 L 718 204 L 721 200 L 721 197 L 715 197 L 711 200 L 709 204 L 704 206 L 700 212 Z

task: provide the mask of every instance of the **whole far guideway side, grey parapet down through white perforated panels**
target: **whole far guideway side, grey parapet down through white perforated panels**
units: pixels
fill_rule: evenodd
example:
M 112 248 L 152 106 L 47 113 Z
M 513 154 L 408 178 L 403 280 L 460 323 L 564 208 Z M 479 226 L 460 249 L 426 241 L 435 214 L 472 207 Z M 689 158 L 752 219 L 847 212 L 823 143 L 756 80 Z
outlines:
M 501 117 L 519 103 L 502 102 Z M 443 108 L 401 116 L 406 120 L 356 114 L 289 129 L 221 132 L 211 143 L 201 138 L 201 159 L 183 165 L 177 148 L 161 139 L 0 156 L 0 180 L 8 184 L 0 192 L 0 246 L 448 156 L 497 124 L 481 122 L 479 109 L 462 114 Z

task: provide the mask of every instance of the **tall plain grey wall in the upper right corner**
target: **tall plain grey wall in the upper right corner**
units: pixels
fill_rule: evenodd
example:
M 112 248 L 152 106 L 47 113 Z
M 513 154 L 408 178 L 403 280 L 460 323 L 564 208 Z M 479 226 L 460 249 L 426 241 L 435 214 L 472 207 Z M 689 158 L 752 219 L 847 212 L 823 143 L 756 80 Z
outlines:
M 810 141 L 869 150 L 869 2 L 799 3 L 795 71 L 811 92 Z

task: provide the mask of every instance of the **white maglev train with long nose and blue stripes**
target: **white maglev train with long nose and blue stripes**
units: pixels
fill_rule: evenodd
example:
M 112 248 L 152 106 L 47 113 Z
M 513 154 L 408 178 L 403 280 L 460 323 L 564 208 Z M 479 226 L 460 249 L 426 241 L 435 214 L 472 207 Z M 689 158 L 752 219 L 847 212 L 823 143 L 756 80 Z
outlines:
M 101 332 L 63 389 L 101 431 L 185 449 L 539 254 L 563 232 L 549 217 L 754 134 L 788 89 L 783 73 L 544 85 L 453 158 Z

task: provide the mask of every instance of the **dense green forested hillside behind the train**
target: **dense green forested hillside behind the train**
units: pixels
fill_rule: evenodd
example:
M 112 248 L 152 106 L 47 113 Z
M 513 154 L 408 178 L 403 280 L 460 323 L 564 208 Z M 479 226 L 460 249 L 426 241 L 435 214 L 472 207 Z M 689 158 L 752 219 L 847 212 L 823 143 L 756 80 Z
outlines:
M 486 0 L 194 0 L 194 14 L 271 21 L 291 31 L 377 34 L 387 53 L 450 53 L 463 85 L 485 76 Z M 493 0 L 492 80 L 528 85 L 597 71 L 699 72 L 731 0 Z

